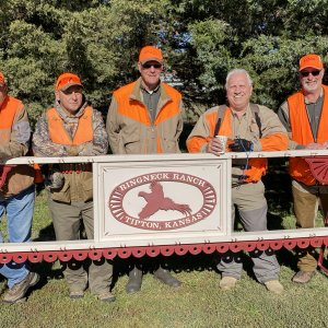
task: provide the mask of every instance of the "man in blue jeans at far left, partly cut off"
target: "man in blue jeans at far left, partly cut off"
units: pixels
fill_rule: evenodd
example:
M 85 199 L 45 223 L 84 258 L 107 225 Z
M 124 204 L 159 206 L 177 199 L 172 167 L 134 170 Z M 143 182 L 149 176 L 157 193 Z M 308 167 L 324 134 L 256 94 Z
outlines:
M 5 78 L 0 72 L 0 161 L 24 156 L 30 147 L 31 128 L 23 103 L 8 95 Z M 34 210 L 34 168 L 30 165 L 0 165 L 0 221 L 7 214 L 10 243 L 31 241 Z M 2 243 L 0 233 L 0 243 Z M 3 301 L 16 303 L 35 285 L 38 274 L 28 265 L 0 265 L 0 274 L 8 279 Z

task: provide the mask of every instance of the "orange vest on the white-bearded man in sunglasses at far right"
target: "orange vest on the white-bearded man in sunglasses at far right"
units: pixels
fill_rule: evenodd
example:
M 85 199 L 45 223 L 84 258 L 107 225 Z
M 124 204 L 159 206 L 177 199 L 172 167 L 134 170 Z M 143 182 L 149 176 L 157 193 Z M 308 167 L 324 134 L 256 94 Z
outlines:
M 317 131 L 316 142 L 323 143 L 328 140 L 328 86 L 323 85 L 324 89 L 324 104 L 320 115 L 320 120 Z M 300 144 L 308 144 L 315 142 L 311 124 L 308 121 L 304 94 L 297 92 L 288 98 L 289 116 L 292 130 L 292 140 Z M 307 186 L 316 184 L 315 177 L 312 175 L 306 161 L 302 157 L 290 159 L 290 175 L 297 181 Z

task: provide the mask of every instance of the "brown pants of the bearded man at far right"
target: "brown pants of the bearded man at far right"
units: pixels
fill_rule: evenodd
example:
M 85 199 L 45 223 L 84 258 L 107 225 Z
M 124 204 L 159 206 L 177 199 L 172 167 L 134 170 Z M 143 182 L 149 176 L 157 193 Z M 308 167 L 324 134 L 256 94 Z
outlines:
M 327 187 L 306 187 L 293 181 L 292 185 L 294 212 L 297 227 L 315 227 L 315 219 L 320 202 L 323 215 L 326 218 L 328 212 L 328 188 Z M 317 260 L 314 257 L 315 249 L 298 249 L 297 268 L 302 271 L 312 272 L 317 268 Z

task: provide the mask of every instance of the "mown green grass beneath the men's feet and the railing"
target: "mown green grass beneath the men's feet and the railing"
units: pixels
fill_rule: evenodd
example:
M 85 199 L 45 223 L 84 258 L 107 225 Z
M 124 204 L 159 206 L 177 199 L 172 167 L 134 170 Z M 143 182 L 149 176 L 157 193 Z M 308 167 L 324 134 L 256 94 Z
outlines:
M 281 197 L 281 199 L 280 199 Z M 283 195 L 274 197 L 284 202 Z M 289 207 L 289 204 L 285 204 Z M 280 203 L 271 203 L 272 225 L 292 226 L 293 218 Z M 34 239 L 54 238 L 45 194 L 37 197 L 34 218 Z M 295 258 L 289 250 L 278 253 L 281 266 L 282 295 L 274 295 L 256 282 L 251 263 L 245 258 L 245 271 L 235 290 L 219 289 L 220 274 L 215 270 L 216 255 L 174 257 L 171 261 L 176 277 L 184 282 L 174 291 L 145 274 L 142 290 L 127 294 L 124 260 L 116 260 L 115 303 L 102 303 L 86 292 L 81 300 L 70 300 L 58 262 L 37 263 L 42 274 L 27 302 L 0 304 L 0 328 L 47 327 L 328 327 L 328 279 L 318 272 L 306 285 L 291 282 Z M 0 281 L 0 290 L 5 282 Z

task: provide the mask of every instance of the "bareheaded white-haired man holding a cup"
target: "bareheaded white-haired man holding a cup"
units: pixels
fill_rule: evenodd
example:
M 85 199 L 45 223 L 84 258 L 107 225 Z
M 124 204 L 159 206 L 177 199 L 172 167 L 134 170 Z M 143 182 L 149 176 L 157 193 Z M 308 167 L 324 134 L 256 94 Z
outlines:
M 232 70 L 226 77 L 227 105 L 208 109 L 198 120 L 187 140 L 189 152 L 220 155 L 225 151 L 282 151 L 288 148 L 288 136 L 273 110 L 250 104 L 253 82 L 244 69 Z M 218 138 L 216 138 L 218 137 Z M 227 144 L 222 142 L 227 137 Z M 266 174 L 267 159 L 232 161 L 232 221 L 235 207 L 247 232 L 267 230 L 267 200 L 261 176 Z M 233 226 L 234 224 L 232 224 Z M 257 280 L 273 293 L 281 293 L 280 266 L 271 249 L 253 253 Z M 243 265 L 236 253 L 222 256 L 218 269 L 222 272 L 220 288 L 231 290 L 241 279 Z

